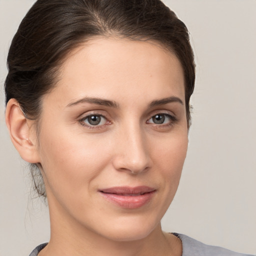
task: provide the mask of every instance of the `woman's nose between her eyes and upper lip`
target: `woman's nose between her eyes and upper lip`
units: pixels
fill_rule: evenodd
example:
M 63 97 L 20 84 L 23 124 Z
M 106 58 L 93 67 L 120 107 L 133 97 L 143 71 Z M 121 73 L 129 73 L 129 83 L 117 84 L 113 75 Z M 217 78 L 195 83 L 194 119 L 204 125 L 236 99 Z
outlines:
M 122 128 L 115 138 L 116 150 L 113 166 L 116 170 L 138 174 L 151 166 L 146 134 L 139 125 Z

